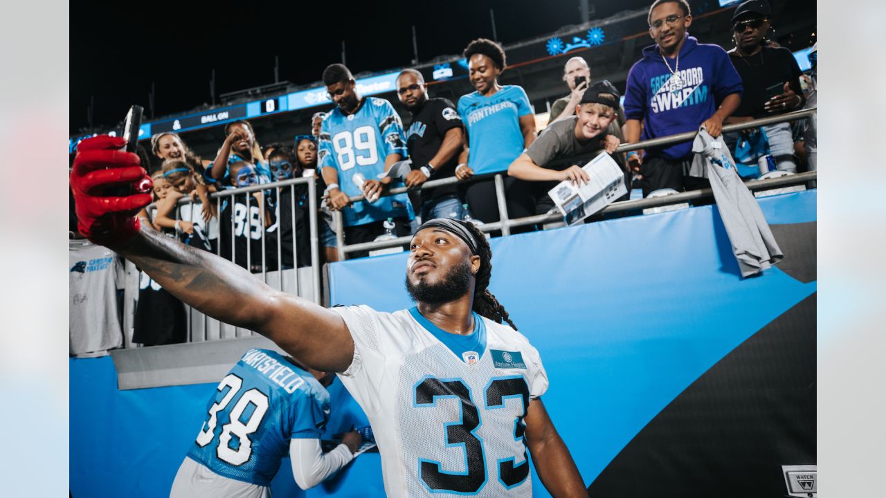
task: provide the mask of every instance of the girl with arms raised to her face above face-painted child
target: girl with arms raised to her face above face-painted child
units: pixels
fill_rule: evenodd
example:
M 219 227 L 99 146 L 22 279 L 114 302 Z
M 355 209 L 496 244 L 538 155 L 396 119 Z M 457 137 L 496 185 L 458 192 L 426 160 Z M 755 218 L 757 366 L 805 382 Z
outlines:
M 208 183 L 229 182 L 229 168 L 237 161 L 252 163 L 259 183 L 268 183 L 271 173 L 261 154 L 261 146 L 255 138 L 249 121 L 232 121 L 224 127 L 225 139 L 211 167 L 206 169 Z

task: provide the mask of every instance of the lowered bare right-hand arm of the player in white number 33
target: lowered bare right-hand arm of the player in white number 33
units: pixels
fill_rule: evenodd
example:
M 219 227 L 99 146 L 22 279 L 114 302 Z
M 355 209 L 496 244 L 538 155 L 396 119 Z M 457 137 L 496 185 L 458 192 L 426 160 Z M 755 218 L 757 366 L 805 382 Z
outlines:
M 535 471 L 548 493 L 554 498 L 580 496 L 587 498 L 587 488 L 579 468 L 548 416 L 540 399 L 529 402 L 526 413 L 526 443 L 532 454 Z

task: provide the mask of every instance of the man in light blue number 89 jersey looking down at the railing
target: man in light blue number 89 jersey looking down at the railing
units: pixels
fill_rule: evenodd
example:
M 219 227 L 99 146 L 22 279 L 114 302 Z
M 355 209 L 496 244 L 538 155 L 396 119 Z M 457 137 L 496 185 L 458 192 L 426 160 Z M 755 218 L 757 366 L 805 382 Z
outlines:
M 400 115 L 384 98 L 361 97 L 344 65 L 327 67 L 323 84 L 336 107 L 323 119 L 317 162 L 330 207 L 345 217 L 346 243 L 371 242 L 385 233 L 382 223 L 388 218 L 396 224 L 398 236 L 409 235 L 409 221 L 415 215 L 407 194 L 379 197 L 392 182 L 379 175 L 406 156 Z M 366 200 L 348 206 L 347 198 L 357 195 Z

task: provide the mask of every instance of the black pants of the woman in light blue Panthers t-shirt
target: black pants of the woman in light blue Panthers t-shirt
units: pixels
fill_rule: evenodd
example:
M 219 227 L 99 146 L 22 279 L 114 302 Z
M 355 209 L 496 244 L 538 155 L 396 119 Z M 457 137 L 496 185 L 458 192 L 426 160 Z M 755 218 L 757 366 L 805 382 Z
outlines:
M 535 191 L 532 182 L 504 177 L 504 191 L 507 199 L 508 217 L 511 220 L 535 214 Z M 495 180 L 480 180 L 469 183 L 464 190 L 464 198 L 470 207 L 470 214 L 484 223 L 498 222 L 498 200 L 495 198 Z M 533 227 L 516 227 L 511 233 L 532 231 Z M 497 235 L 494 233 L 493 235 Z

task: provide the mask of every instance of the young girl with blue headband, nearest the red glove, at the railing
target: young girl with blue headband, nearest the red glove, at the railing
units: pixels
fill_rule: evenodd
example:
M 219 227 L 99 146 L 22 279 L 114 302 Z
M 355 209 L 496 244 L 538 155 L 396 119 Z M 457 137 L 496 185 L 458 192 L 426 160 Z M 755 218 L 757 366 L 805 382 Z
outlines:
M 158 205 L 155 222 L 161 227 L 175 228 L 176 232 L 181 232 L 186 244 L 214 252 L 218 222 L 198 215 L 199 212 L 206 213 L 205 206 L 213 203 L 206 195 L 203 178 L 183 160 L 167 160 L 161 171 L 171 192 L 162 205 Z M 179 206 L 178 199 L 183 196 L 190 196 L 193 202 Z M 175 219 L 171 216 L 173 212 L 176 212 Z

